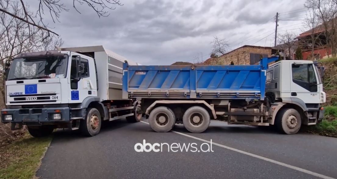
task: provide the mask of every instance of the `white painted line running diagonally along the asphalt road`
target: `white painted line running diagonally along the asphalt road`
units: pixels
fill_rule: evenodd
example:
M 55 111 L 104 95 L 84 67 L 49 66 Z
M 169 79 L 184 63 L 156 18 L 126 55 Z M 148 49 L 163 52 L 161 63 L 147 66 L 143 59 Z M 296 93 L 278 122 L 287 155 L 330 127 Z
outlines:
M 149 124 L 149 123 L 144 122 L 144 121 L 141 121 L 141 122 Z M 171 130 L 171 132 L 174 132 L 176 134 L 180 134 L 180 135 L 192 138 L 192 139 L 196 139 L 196 140 L 200 140 L 200 141 L 203 141 L 203 142 L 211 143 L 211 141 L 208 141 L 208 140 L 205 140 L 205 139 L 201 139 L 201 138 L 198 138 L 198 137 L 194 137 L 194 136 L 191 136 L 191 135 L 188 135 L 188 134 L 184 134 L 184 133 L 181 133 L 181 132 L 172 131 L 172 130 Z M 287 168 L 290 168 L 290 169 L 293 169 L 293 170 L 297 170 L 297 171 L 300 171 L 300 172 L 303 172 L 303 173 L 306 173 L 306 174 L 310 174 L 310 175 L 313 175 L 313 176 L 316 176 L 316 177 L 319 177 L 319 178 L 334 179 L 332 177 L 328 177 L 328 176 L 325 176 L 325 175 L 322 175 L 322 174 L 319 174 L 319 173 L 311 172 L 309 170 L 305 170 L 305 169 L 302 169 L 302 168 L 299 168 L 299 167 L 295 167 L 295 166 L 288 165 L 288 164 L 285 164 L 285 163 L 282 163 L 282 162 L 278 162 L 276 160 L 268 159 L 268 158 L 266 158 L 264 156 L 256 155 L 256 154 L 253 154 L 253 153 L 245 152 L 243 150 L 239 150 L 239 149 L 236 149 L 236 148 L 228 147 L 226 145 L 218 144 L 218 143 L 215 143 L 213 141 L 212 141 L 212 144 L 216 145 L 216 146 L 219 146 L 219 147 L 222 147 L 222 148 L 225 148 L 225 149 L 228 149 L 228 150 L 233 150 L 233 151 L 236 151 L 236 152 L 239 152 L 239 153 L 242 153 L 242 154 L 246 154 L 246 155 L 255 157 L 257 159 L 268 161 L 268 162 L 271 162 L 271 163 L 274 163 L 274 164 L 277 164 L 277 165 L 280 165 L 280 166 L 283 166 L 283 167 L 287 167 Z

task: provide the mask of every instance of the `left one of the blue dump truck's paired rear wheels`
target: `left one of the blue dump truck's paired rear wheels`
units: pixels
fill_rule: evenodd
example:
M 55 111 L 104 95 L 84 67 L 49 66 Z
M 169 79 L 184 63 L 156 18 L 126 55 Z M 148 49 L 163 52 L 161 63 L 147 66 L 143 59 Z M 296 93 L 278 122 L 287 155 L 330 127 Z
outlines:
M 168 132 L 176 124 L 176 116 L 168 107 L 156 107 L 150 113 L 149 124 L 156 132 Z

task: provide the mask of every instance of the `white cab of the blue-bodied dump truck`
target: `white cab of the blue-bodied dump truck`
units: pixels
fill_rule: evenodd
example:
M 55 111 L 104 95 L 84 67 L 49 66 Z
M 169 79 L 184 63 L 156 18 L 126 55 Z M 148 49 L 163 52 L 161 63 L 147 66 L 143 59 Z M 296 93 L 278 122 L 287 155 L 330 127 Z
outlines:
M 267 70 L 266 97 L 272 102 L 276 115 L 282 107 L 300 111 L 302 124 L 315 125 L 323 119 L 326 93 L 318 63 L 310 60 L 281 60 Z M 321 112 L 319 112 L 321 111 Z M 271 124 L 274 124 L 275 116 Z

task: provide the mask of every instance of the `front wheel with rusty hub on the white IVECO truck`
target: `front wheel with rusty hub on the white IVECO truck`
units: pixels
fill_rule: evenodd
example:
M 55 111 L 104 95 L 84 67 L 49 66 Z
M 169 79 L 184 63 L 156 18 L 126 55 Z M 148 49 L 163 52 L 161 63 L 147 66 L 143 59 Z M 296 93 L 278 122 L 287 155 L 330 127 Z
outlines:
M 87 108 L 87 115 L 80 122 L 80 129 L 83 135 L 92 137 L 99 133 L 101 129 L 101 115 L 96 108 Z

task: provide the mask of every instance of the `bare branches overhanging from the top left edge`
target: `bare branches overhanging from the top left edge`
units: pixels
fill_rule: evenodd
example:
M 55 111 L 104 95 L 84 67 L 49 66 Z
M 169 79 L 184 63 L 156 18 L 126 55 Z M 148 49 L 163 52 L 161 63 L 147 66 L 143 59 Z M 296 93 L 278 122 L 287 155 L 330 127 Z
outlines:
M 30 26 L 39 28 L 41 30 L 47 31 L 47 36 L 50 36 L 50 33 L 58 36 L 57 33 L 50 30 L 48 24 L 44 22 L 45 13 L 49 14 L 52 18 L 53 22 L 59 21 L 60 14 L 62 11 L 68 11 L 69 8 L 66 7 L 62 2 L 65 0 L 38 0 L 38 7 L 36 7 L 37 11 L 33 15 L 29 12 L 29 6 L 24 3 L 23 0 L 1 0 L 0 4 L 2 6 L 6 6 L 5 4 L 9 4 L 11 2 L 18 2 L 20 6 L 23 8 L 23 14 L 15 14 L 11 9 L 0 8 L 0 11 L 6 13 L 14 18 L 24 21 L 28 24 L 29 30 Z M 87 5 L 91 9 L 93 9 L 98 17 L 109 16 L 109 10 L 115 9 L 115 6 L 122 6 L 123 4 L 119 0 L 72 0 L 72 7 L 79 13 L 78 5 Z

